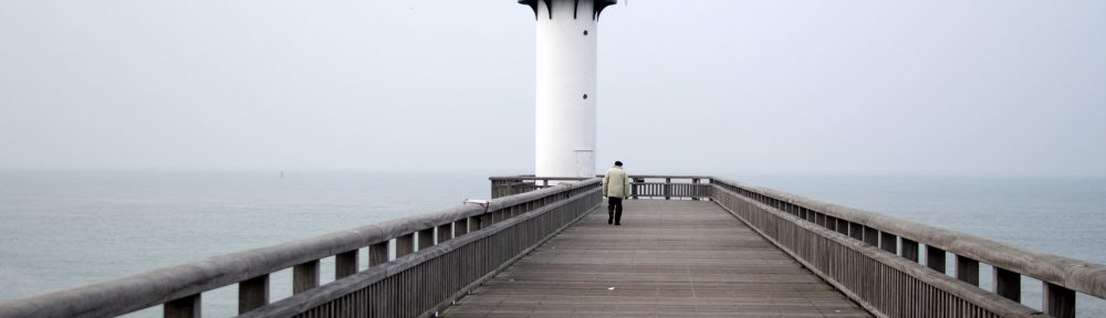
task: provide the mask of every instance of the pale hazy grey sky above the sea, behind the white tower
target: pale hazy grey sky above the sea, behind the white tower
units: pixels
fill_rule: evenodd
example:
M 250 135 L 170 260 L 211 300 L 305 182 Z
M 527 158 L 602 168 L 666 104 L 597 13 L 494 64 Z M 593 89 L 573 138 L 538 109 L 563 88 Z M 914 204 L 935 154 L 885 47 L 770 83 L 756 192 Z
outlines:
M 599 171 L 1106 176 L 1106 1 L 649 1 Z M 512 0 L 0 0 L 0 169 L 533 169 Z

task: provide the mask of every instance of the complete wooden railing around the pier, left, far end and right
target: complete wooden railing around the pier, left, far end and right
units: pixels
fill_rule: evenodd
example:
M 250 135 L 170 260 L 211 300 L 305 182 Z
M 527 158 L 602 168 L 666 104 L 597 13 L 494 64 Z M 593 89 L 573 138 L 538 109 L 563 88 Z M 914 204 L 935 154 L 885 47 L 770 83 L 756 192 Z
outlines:
M 1044 285 L 1047 316 L 1074 317 L 1076 293 L 1106 298 L 1099 264 L 724 179 L 630 178 L 634 198 L 717 201 L 880 317 L 1041 317 L 1019 303 L 1023 276 Z M 495 177 L 492 194 L 502 198 L 486 208 L 458 206 L 3 303 L 0 317 L 103 317 L 159 304 L 166 317 L 198 317 L 201 294 L 230 284 L 239 286 L 244 317 L 432 316 L 598 206 L 601 180 L 578 179 Z M 396 257 L 388 256 L 389 242 Z M 320 259 L 331 256 L 336 280 L 319 286 Z M 954 277 L 946 268 L 949 256 Z M 368 269 L 357 271 L 361 259 Z M 979 288 L 981 264 L 994 268 L 993 293 Z M 295 295 L 270 304 L 270 274 L 290 267 Z

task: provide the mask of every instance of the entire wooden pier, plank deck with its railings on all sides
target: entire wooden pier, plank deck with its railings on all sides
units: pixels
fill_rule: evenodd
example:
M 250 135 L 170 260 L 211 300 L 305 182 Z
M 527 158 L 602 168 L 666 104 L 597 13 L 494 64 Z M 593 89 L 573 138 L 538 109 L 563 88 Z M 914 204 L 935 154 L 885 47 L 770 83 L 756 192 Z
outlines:
M 597 178 L 491 178 L 492 200 L 6 301 L 0 317 L 200 317 L 228 285 L 241 317 L 1075 317 L 1077 293 L 1106 297 L 1099 264 L 719 178 L 632 177 L 622 226 Z M 294 295 L 270 299 L 286 268 Z M 1019 303 L 1023 276 L 1044 312 Z

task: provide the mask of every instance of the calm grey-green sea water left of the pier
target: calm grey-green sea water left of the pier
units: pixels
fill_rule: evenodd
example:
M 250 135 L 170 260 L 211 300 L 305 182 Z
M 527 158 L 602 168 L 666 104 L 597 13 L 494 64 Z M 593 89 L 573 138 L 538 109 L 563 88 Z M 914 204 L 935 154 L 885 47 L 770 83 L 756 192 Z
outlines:
M 488 198 L 488 177 L 0 172 L 0 300 L 439 211 Z M 290 272 L 273 275 L 271 299 L 291 295 Z M 233 316 L 237 293 L 204 294 L 204 316 Z M 159 308 L 128 316 L 160 317 Z

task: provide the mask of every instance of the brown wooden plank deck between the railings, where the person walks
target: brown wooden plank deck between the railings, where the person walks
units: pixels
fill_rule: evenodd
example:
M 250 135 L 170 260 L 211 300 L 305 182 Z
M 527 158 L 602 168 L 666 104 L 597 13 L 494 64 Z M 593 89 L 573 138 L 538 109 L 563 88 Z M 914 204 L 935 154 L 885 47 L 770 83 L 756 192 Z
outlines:
M 707 201 L 596 210 L 444 317 L 872 317 Z

